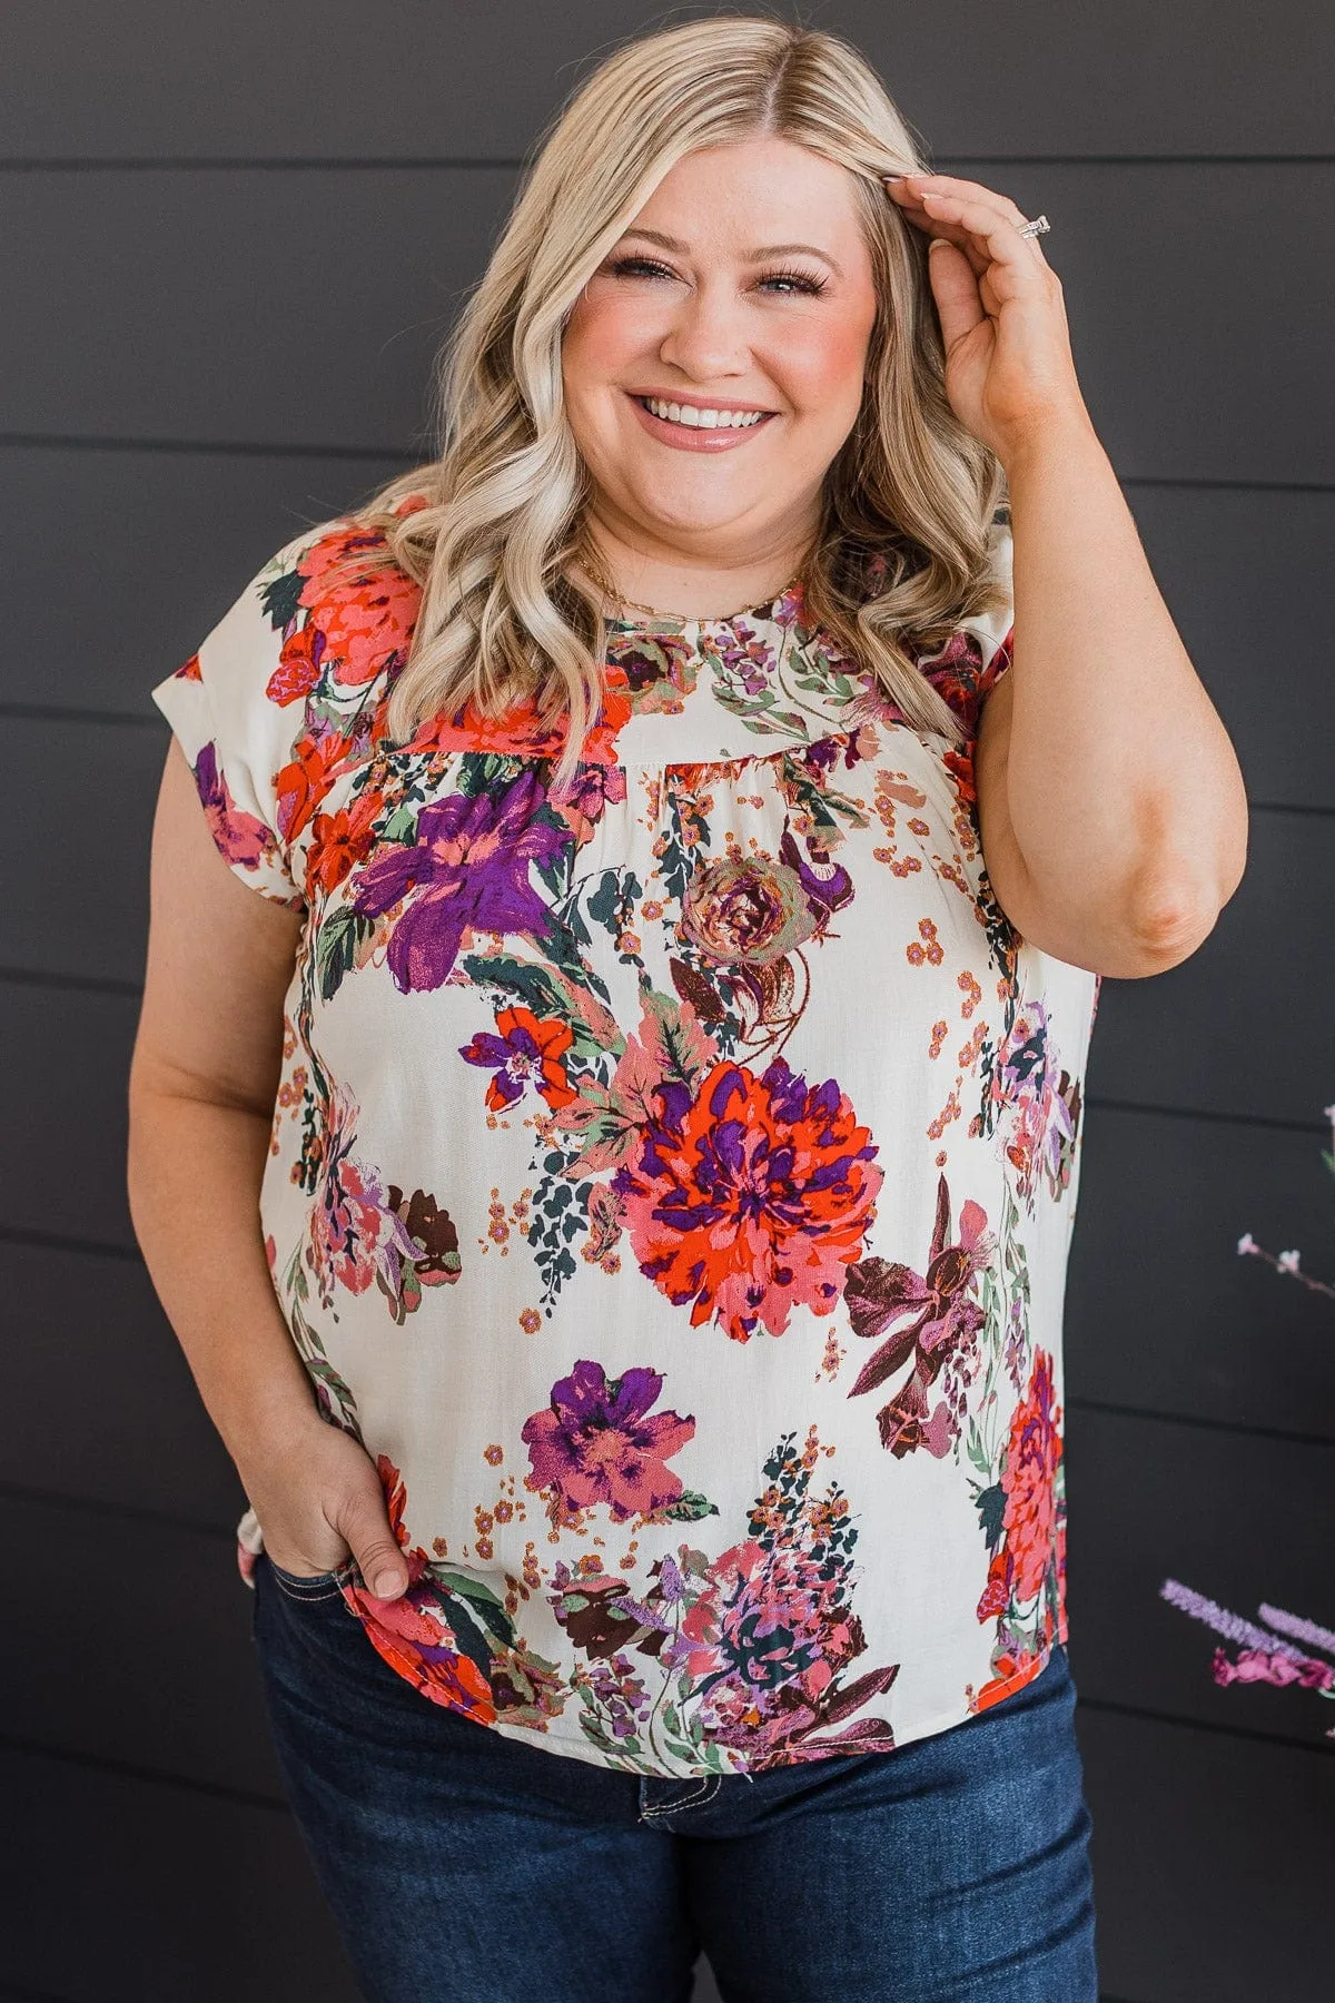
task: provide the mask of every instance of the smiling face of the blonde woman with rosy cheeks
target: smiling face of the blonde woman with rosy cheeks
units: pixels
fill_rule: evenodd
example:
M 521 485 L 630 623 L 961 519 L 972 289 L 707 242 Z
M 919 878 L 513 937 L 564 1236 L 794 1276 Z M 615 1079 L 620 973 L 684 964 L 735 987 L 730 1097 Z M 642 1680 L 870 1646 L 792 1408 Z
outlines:
M 594 519 L 658 565 L 725 571 L 805 547 L 875 318 L 845 168 L 783 138 L 687 154 L 566 322 Z

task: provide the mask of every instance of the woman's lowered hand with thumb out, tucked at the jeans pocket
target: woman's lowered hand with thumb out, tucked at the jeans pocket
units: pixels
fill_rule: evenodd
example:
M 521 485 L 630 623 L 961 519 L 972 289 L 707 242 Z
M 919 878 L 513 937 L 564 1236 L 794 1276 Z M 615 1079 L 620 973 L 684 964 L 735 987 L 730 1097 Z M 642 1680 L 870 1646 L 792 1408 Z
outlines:
M 364 1446 L 312 1412 L 282 1444 L 236 1460 L 264 1550 L 284 1572 L 332 1572 L 352 1556 L 378 1600 L 398 1598 L 408 1562 L 394 1540 L 384 1488 Z

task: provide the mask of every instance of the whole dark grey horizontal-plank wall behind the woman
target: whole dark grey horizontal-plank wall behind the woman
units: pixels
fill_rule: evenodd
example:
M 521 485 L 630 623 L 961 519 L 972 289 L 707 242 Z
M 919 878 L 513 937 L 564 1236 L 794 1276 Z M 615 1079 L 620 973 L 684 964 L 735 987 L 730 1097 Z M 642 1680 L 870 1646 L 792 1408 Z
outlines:
M 422 457 L 430 355 L 516 160 L 590 60 L 679 16 L 6 18 L 0 1765 L 22 1843 L 0 1995 L 352 1997 L 262 1727 L 240 1488 L 126 1214 L 166 749 L 148 689 L 296 529 Z M 1333 1713 L 1217 1689 L 1211 1636 L 1157 1592 L 1173 1574 L 1335 1620 L 1335 1318 L 1237 1256 L 1253 1230 L 1335 1268 L 1335 16 L 805 18 L 877 62 L 937 168 L 1049 214 L 1085 397 L 1247 775 L 1243 887 L 1183 967 L 1105 981 L 1095 1028 L 1067 1294 L 1073 1662 L 1107 1995 L 1317 2003 Z

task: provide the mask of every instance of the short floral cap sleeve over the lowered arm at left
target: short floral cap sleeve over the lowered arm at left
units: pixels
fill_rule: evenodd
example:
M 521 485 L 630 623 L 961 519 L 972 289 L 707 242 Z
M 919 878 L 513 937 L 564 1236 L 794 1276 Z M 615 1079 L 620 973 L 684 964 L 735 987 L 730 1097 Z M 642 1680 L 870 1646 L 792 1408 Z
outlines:
M 284 839 L 280 777 L 296 757 L 304 711 L 292 699 L 284 645 L 302 587 L 298 559 L 322 533 L 312 529 L 270 557 L 196 653 L 150 691 L 194 771 L 224 863 L 292 911 L 306 897 Z

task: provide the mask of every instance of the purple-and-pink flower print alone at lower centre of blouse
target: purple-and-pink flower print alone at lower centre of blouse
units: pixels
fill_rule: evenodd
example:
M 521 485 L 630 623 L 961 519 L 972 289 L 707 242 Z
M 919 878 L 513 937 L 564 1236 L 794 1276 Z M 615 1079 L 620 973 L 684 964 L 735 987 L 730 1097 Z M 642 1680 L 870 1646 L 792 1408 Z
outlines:
M 520 1428 L 534 1484 L 554 1488 L 566 1508 L 606 1506 L 612 1522 L 677 1502 L 683 1484 L 662 1462 L 695 1438 L 695 1418 L 648 1418 L 660 1390 L 656 1370 L 608 1380 L 602 1364 L 576 1362 L 552 1384 L 550 1406 Z

